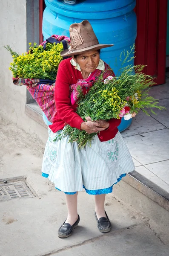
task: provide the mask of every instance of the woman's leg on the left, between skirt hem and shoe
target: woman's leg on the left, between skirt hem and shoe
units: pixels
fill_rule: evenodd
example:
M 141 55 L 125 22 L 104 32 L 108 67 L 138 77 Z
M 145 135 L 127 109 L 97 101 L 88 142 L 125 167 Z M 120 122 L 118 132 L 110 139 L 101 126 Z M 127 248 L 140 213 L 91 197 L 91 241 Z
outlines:
M 65 222 L 69 223 L 71 226 L 78 219 L 77 195 L 78 195 L 78 192 L 76 192 L 76 194 L 74 194 L 74 195 L 66 195 L 66 205 L 67 205 L 67 209 L 68 209 L 68 217 Z

